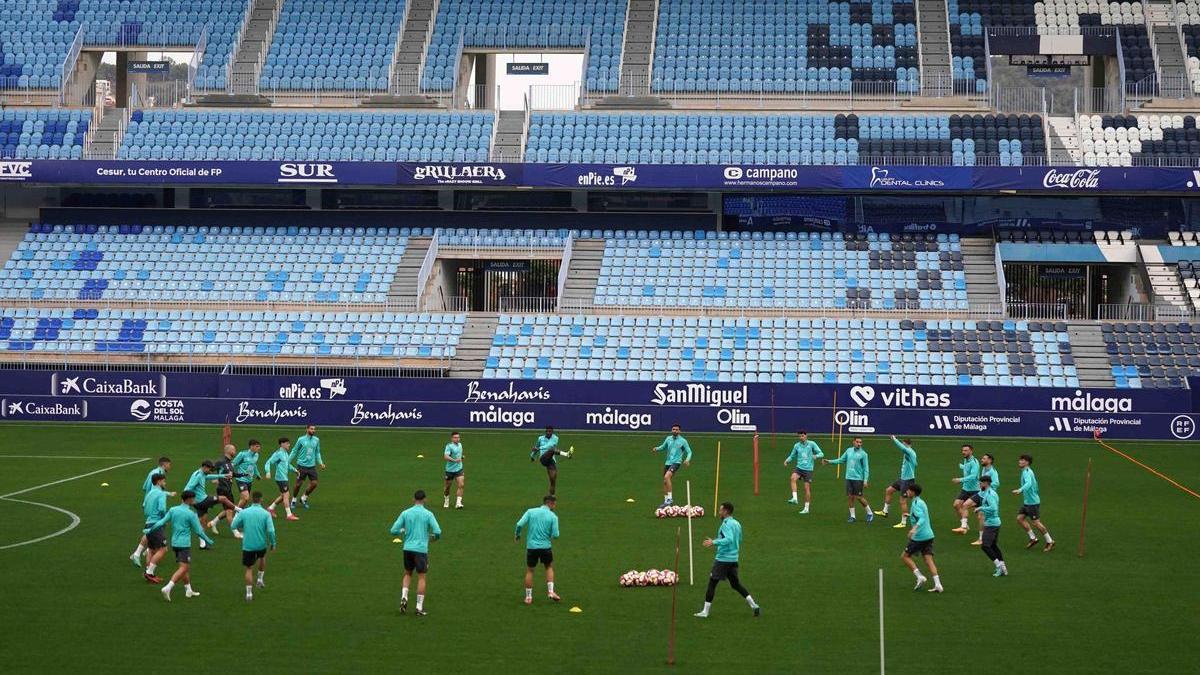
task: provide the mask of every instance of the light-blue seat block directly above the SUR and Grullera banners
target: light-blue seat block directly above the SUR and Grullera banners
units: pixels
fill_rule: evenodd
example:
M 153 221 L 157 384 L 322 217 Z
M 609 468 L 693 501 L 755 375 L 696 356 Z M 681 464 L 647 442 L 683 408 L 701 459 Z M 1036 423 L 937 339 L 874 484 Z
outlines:
M 136 110 L 125 160 L 486 161 L 490 113 Z

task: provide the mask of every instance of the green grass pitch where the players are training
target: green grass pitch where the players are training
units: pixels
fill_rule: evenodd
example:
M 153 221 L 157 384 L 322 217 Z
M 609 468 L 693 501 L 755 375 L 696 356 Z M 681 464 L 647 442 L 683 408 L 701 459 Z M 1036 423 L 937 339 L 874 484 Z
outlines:
M 217 428 L 134 425 L 5 425 L 0 455 L 151 458 L 168 454 L 169 485 L 218 447 Z M 274 448 L 296 429 L 238 428 Z M 401 546 L 388 527 L 414 489 L 439 495 L 444 432 L 324 429 L 329 468 L 300 522 L 277 521 L 280 549 L 269 558 L 268 589 L 242 601 L 239 545 L 222 528 L 218 548 L 194 554 L 193 581 L 203 595 L 167 604 L 126 556 L 140 526 L 142 479 L 150 461 L 47 486 L 17 498 L 78 514 L 78 528 L 38 544 L 0 550 L 0 635 L 4 669 L 265 671 L 659 671 L 665 669 L 670 589 L 620 589 L 630 568 L 672 563 L 683 527 L 680 572 L 686 580 L 686 521 L 658 520 L 661 458 L 648 448 L 660 434 L 563 432 L 577 456 L 562 462 L 556 543 L 559 605 L 522 604 L 523 546 L 512 542 L 521 512 L 540 501 L 545 472 L 528 460 L 535 430 L 466 431 L 467 509 L 431 506 L 444 530 L 431 546 L 427 610 L 396 611 Z M 752 494 L 745 436 L 692 435 L 696 459 L 683 479 L 696 503 L 713 508 L 715 444 L 722 441 L 721 498 L 737 504 L 745 528 L 742 578 L 763 607 L 755 620 L 722 585 L 713 616 L 691 613 L 703 601 L 712 554 L 696 527 L 696 586 L 679 589 L 678 667 L 689 673 L 872 673 L 878 668 L 878 568 L 884 573 L 889 669 L 936 673 L 1187 671 L 1195 665 L 1200 619 L 1195 574 L 1200 500 L 1186 495 L 1091 441 L 979 440 L 1000 458 L 1001 545 L 1012 575 L 991 578 L 991 565 L 956 525 L 958 443 L 919 438 L 918 478 L 932 512 L 937 562 L 947 592 L 913 593 L 898 556 L 901 530 L 876 520 L 846 524 L 842 484 L 833 467 L 817 472 L 808 516 L 785 504 L 782 460 L 791 440 L 762 438 L 762 494 Z M 827 437 L 817 441 L 830 452 Z M 868 438 L 881 502 L 895 478 L 899 453 Z M 1187 443 L 1120 443 L 1141 461 L 1193 489 L 1200 454 Z M 1024 549 L 1014 520 L 1016 455 L 1030 452 L 1042 485 L 1043 515 L 1060 546 Z M 416 459 L 419 453 L 425 459 Z M 1076 556 L 1084 470 L 1094 460 L 1087 555 Z M 0 459 L 0 495 L 120 464 L 120 459 Z M 101 483 L 109 488 L 101 488 Z M 268 494 L 270 483 L 264 483 Z M 625 502 L 628 497 L 636 503 Z M 896 504 L 893 504 L 895 507 Z M 54 532 L 60 513 L 0 500 L 0 546 Z M 973 522 L 973 521 L 972 521 Z M 174 569 L 168 555 L 163 566 Z M 569 614 L 578 605 L 582 614 Z

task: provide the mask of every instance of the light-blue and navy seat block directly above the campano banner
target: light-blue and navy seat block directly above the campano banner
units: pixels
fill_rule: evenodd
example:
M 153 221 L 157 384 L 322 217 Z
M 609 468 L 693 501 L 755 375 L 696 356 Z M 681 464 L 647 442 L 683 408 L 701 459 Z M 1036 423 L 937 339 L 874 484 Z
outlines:
M 528 162 L 1045 163 L 1040 115 L 538 113 Z

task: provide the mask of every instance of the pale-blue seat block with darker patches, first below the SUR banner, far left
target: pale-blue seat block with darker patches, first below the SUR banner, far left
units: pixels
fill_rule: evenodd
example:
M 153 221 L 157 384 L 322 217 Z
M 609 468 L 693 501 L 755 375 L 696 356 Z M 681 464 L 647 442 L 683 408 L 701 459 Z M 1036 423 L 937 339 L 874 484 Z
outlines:
M 0 297 L 384 303 L 408 235 L 377 227 L 35 225 L 0 270 Z

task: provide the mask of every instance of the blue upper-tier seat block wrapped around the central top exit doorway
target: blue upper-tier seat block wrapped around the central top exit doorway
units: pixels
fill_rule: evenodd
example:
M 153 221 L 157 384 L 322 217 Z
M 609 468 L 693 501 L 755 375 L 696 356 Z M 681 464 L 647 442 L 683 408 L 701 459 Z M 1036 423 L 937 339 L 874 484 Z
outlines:
M 517 50 L 586 49 L 586 86 L 617 89 L 625 0 L 440 0 L 421 88 L 448 91 L 463 47 Z

